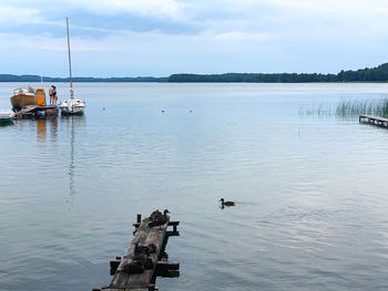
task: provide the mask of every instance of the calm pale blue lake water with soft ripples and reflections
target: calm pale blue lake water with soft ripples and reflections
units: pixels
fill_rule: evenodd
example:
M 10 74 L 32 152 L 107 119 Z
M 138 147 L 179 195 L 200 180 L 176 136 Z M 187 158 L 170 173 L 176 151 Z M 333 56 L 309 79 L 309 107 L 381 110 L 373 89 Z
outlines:
M 0 107 L 21 85 L 0 83 Z M 181 277 L 161 291 L 388 289 L 388 132 L 300 114 L 388 97 L 388 84 L 75 92 L 84 116 L 0 127 L 0 290 L 109 284 L 136 214 L 156 208 L 181 220 L 166 249 Z

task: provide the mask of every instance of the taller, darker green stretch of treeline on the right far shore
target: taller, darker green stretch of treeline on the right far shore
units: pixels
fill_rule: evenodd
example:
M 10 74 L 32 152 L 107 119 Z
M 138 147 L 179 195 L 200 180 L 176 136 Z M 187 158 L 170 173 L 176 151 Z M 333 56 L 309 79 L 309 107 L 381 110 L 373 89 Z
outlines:
M 372 69 L 340 71 L 338 74 L 297 73 L 227 73 L 227 74 L 173 74 L 169 82 L 224 82 L 224 83 L 310 83 L 310 82 L 388 82 L 388 63 Z

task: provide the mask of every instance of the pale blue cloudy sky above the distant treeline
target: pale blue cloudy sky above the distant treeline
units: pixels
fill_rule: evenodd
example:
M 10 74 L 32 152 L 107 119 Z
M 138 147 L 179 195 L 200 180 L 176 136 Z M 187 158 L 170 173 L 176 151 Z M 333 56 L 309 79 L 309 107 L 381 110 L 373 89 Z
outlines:
M 387 0 L 0 0 L 0 74 L 338 73 L 388 62 Z

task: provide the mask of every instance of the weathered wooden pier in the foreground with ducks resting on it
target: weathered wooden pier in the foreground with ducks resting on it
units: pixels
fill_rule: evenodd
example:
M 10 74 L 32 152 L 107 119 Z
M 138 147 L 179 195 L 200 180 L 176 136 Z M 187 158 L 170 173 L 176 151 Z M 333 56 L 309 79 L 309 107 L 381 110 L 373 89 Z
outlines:
M 93 291 L 159 290 L 155 287 L 156 277 L 178 277 L 180 263 L 169 262 L 164 250 L 169 237 L 180 235 L 180 221 L 171 221 L 166 214 L 156 211 L 143 220 L 141 215 L 137 215 L 137 220 L 133 224 L 134 238 L 125 256 L 110 261 L 113 276 L 110 285 Z M 170 226 L 173 227 L 171 231 L 167 230 Z

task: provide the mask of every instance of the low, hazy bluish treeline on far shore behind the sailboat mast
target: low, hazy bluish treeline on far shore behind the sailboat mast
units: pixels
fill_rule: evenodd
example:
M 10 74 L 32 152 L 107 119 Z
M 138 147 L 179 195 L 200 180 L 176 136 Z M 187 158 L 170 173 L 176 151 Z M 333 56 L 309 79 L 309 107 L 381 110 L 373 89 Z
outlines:
M 70 82 L 69 77 L 43 76 L 43 82 Z M 136 77 L 89 77 L 76 76 L 73 82 L 167 82 L 169 77 L 136 76 Z M 40 82 L 40 75 L 0 74 L 0 82 Z

